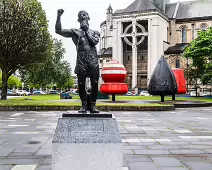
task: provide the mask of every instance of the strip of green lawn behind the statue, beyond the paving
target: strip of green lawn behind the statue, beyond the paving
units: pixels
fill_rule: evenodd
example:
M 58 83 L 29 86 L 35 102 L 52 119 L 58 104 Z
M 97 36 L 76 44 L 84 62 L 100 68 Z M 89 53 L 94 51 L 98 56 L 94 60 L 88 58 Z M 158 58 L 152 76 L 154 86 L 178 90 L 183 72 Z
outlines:
M 73 99 L 79 99 L 78 95 L 73 95 Z M 76 101 L 57 101 L 60 100 L 60 95 L 32 95 L 20 98 L 8 99 L 5 101 L 0 100 L 0 106 L 80 106 L 80 102 Z M 70 99 L 72 100 L 72 99 Z M 160 103 L 160 96 L 116 96 L 117 101 L 133 101 L 133 100 L 157 100 L 159 103 L 147 104 L 128 104 L 128 103 L 98 103 L 98 106 L 164 106 L 167 104 Z M 165 97 L 166 100 L 171 100 L 170 96 Z M 204 97 L 184 97 L 176 100 L 193 100 L 212 102 L 212 98 Z

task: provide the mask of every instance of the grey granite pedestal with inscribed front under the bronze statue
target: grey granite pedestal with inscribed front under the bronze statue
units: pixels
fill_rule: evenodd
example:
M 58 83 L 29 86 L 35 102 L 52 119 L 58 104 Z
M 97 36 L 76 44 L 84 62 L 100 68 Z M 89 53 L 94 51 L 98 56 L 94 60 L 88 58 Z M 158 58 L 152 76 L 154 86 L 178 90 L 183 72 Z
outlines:
M 116 120 L 108 117 L 60 118 L 52 142 L 52 170 L 122 170 L 121 137 Z

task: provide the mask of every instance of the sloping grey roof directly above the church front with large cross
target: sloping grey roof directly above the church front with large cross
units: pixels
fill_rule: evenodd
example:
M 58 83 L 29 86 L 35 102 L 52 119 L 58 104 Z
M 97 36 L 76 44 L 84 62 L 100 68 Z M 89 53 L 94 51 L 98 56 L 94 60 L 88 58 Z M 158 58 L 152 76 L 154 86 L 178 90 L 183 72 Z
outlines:
M 115 11 L 117 13 L 133 13 L 133 12 L 145 12 L 150 10 L 158 10 L 157 6 L 151 0 L 135 0 L 132 4 L 130 4 L 127 8 L 123 10 Z

